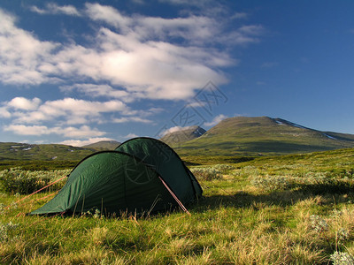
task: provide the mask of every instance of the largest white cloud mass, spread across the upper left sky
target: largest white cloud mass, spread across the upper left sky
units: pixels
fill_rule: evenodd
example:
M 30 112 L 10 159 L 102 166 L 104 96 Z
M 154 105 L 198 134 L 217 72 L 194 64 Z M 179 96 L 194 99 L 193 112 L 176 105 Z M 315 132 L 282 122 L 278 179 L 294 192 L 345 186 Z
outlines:
M 102 4 L 47 4 L 38 13 L 87 16 L 107 27 L 93 27 L 95 43 L 40 41 L 16 26 L 14 16 L 0 10 L 0 80 L 39 85 L 89 80 L 110 83 L 75 89 L 92 96 L 184 100 L 211 80 L 227 82 L 219 67 L 237 64 L 220 46 L 258 42 L 261 26 L 242 26 L 228 33 L 218 19 L 189 15 L 173 19 L 125 15 Z M 178 41 L 176 41 L 178 40 Z M 85 82 L 88 83 L 88 82 Z M 62 85 L 68 88 L 73 85 Z M 102 89 L 102 90 L 101 90 Z

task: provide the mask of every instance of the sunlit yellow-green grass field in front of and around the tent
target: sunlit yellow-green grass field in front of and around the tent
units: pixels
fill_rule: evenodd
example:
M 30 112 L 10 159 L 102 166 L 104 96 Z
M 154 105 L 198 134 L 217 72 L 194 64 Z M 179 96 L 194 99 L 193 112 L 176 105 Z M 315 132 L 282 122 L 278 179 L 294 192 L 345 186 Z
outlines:
M 25 216 L 50 193 L 3 192 L 0 263 L 354 264 L 353 149 L 191 170 L 191 216 Z

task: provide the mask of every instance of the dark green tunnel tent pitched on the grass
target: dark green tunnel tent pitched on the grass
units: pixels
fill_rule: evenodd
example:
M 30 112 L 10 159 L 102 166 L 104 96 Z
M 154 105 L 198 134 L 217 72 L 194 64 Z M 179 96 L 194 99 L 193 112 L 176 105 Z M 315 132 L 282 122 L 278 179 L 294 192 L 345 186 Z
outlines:
M 152 138 L 135 138 L 83 159 L 59 193 L 30 214 L 81 214 L 92 209 L 142 214 L 189 204 L 202 193 L 172 148 Z

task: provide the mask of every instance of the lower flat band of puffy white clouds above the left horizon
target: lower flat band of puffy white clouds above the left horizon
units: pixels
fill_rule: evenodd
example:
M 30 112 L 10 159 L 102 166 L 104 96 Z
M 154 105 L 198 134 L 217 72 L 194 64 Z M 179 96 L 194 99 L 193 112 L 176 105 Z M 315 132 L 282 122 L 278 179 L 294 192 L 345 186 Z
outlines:
M 17 127 L 19 127 L 18 125 L 41 125 L 43 123 L 53 122 L 65 125 L 83 125 L 93 122 L 98 124 L 106 122 L 118 124 L 127 122 L 151 124 L 153 121 L 146 117 L 161 111 L 162 109 L 160 108 L 131 110 L 124 102 L 119 100 L 96 102 L 65 98 L 62 100 L 42 102 L 38 98 L 27 99 L 24 97 L 16 97 L 10 102 L 2 103 L 0 116 L 7 118 L 12 117 L 12 123 Z M 105 113 L 119 113 L 121 117 L 104 118 L 103 115 Z

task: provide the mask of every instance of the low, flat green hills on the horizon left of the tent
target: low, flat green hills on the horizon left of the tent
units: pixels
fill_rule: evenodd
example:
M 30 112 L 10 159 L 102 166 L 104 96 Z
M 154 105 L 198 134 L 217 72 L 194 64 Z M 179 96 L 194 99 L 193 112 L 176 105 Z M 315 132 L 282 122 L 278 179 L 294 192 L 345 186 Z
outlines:
M 0 161 L 4 160 L 81 160 L 96 150 L 60 144 L 0 142 Z

